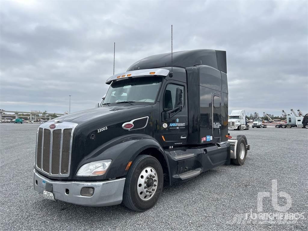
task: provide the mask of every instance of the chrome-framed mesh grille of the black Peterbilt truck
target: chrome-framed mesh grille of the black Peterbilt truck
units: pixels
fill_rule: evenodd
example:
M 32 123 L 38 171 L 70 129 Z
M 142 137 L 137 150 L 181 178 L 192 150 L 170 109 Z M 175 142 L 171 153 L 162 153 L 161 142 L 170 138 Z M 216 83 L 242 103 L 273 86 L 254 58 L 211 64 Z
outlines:
M 75 123 L 52 122 L 40 126 L 37 132 L 36 168 L 49 176 L 68 176 L 71 163 L 71 145 Z

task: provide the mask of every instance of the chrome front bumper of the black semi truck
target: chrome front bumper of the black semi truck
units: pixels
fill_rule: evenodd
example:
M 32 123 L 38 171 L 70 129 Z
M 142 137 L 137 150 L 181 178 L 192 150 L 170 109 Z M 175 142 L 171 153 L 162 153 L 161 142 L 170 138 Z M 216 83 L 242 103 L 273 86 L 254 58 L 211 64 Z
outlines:
M 52 193 L 55 200 L 65 201 L 76 205 L 109 206 L 122 202 L 125 178 L 104 181 L 58 181 L 50 180 L 34 170 L 34 190 L 42 193 L 47 185 L 52 184 Z M 91 197 L 80 195 L 81 188 L 92 187 L 94 193 Z M 66 194 L 67 189 L 69 193 Z

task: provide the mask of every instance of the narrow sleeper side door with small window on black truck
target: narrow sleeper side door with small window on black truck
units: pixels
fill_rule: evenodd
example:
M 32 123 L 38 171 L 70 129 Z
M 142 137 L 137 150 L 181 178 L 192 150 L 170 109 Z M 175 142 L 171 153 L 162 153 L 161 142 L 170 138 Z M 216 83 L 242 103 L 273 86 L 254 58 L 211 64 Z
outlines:
M 212 95 L 212 111 L 213 138 L 221 138 L 221 98 L 216 93 Z M 217 142 L 219 141 L 220 139 Z

